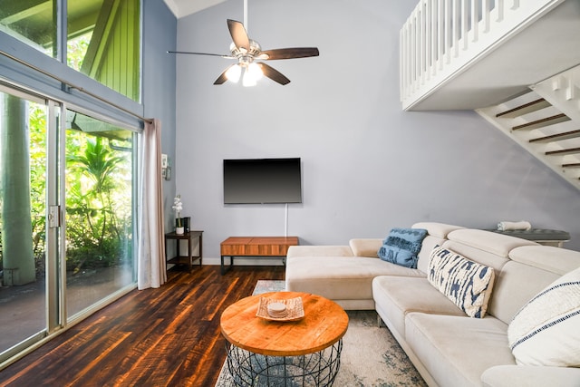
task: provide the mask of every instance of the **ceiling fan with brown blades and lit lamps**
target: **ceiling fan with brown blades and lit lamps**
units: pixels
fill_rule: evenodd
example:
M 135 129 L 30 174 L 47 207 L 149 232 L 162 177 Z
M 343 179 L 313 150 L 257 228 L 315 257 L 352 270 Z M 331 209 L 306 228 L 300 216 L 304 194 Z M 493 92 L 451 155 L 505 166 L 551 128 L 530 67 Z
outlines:
M 241 78 L 244 86 L 255 86 L 256 81 L 262 76 L 266 76 L 282 85 L 290 82 L 283 73 L 278 72 L 274 67 L 262 61 L 306 58 L 319 55 L 318 48 L 316 47 L 278 48 L 263 51 L 260 44 L 250 39 L 247 35 L 247 0 L 244 0 L 244 24 L 237 20 L 227 19 L 227 28 L 233 41 L 229 46 L 231 54 L 222 55 L 218 53 L 191 53 L 183 51 L 168 51 L 168 53 L 211 55 L 226 59 L 236 59 L 237 63 L 228 66 L 218 76 L 214 84 L 223 84 L 226 81 L 238 82 Z

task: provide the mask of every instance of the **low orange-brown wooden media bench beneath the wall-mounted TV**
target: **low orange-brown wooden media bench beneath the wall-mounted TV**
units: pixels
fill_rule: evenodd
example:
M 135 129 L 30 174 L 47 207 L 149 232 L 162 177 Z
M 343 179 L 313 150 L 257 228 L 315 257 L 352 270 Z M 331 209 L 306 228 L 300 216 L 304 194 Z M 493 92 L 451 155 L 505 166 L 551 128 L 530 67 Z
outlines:
M 298 237 L 228 237 L 220 244 L 221 274 L 234 266 L 234 256 L 286 256 L 288 247 L 297 246 Z M 229 266 L 224 257 L 229 256 Z

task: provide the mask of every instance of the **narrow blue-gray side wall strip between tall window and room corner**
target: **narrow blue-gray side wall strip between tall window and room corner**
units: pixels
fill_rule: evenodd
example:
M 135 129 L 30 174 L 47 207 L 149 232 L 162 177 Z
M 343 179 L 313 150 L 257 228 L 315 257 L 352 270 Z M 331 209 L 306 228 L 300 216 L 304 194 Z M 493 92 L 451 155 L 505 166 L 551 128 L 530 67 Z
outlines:
M 163 0 L 143 2 L 143 107 L 148 118 L 161 121 L 161 151 L 175 160 L 177 19 Z M 163 180 L 165 227 L 174 225 L 171 211 L 175 179 Z

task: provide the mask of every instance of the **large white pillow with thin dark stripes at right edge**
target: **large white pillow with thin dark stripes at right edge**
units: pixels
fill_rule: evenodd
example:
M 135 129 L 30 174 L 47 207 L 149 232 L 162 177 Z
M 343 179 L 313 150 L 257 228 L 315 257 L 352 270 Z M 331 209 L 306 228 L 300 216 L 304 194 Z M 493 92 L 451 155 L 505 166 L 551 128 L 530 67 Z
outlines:
M 580 367 L 580 267 L 529 300 L 507 339 L 518 364 Z

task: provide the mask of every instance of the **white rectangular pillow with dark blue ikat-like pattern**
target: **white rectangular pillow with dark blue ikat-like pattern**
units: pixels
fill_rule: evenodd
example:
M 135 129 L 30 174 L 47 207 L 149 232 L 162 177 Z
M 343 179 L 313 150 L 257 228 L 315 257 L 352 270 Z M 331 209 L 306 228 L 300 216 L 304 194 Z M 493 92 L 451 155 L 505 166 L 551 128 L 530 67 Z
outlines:
M 486 315 L 495 278 L 492 267 L 438 246 L 431 251 L 427 278 L 469 317 Z

